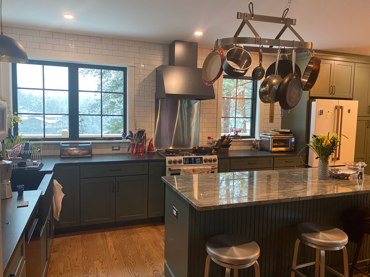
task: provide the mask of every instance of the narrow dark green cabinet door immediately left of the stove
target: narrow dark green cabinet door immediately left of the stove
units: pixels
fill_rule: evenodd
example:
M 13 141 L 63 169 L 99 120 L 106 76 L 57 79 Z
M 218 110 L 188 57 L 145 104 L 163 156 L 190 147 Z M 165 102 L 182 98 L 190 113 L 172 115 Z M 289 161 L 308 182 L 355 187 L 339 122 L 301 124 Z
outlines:
M 164 215 L 164 162 L 150 162 L 148 176 L 148 218 Z

